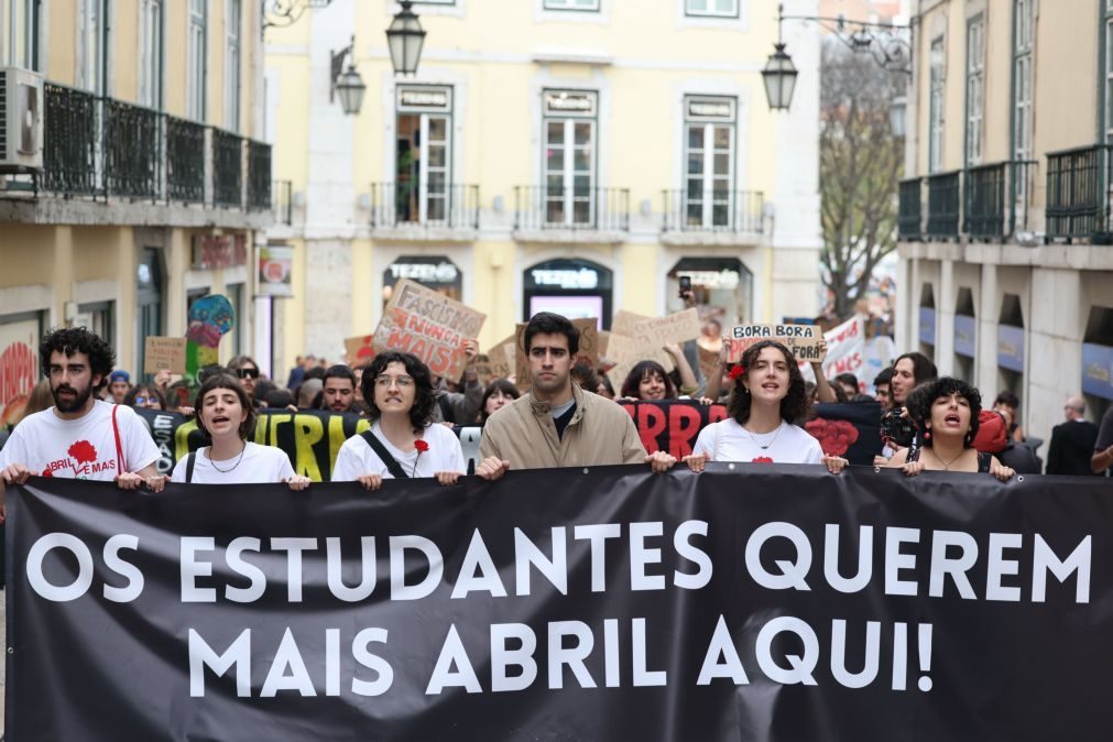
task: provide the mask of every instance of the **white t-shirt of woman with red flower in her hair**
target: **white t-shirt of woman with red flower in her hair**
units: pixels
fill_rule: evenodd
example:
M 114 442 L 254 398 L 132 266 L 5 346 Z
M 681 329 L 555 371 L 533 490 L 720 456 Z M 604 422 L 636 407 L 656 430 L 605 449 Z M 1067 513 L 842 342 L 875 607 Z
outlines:
M 713 462 L 767 464 L 820 464 L 824 457 L 819 442 L 801 427 L 781 422 L 772 433 L 750 436 L 733 417 L 700 431 L 692 453 L 709 454 Z

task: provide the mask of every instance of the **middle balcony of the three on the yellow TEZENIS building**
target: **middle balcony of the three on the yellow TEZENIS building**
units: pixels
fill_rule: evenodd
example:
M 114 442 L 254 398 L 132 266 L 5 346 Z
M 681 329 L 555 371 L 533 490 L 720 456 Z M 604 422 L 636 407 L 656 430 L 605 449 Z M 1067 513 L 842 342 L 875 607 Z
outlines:
M 630 190 L 515 186 L 514 237 L 521 241 L 617 244 L 630 231 Z

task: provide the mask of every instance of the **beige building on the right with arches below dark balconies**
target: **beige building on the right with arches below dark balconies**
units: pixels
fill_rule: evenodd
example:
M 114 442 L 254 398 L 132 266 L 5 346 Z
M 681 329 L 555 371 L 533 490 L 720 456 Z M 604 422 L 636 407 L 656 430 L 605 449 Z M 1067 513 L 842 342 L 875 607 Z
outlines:
M 1047 439 L 1113 402 L 1113 4 L 920 0 L 897 346 Z M 907 287 L 907 288 L 905 288 Z M 1044 453 L 1044 452 L 1041 452 Z

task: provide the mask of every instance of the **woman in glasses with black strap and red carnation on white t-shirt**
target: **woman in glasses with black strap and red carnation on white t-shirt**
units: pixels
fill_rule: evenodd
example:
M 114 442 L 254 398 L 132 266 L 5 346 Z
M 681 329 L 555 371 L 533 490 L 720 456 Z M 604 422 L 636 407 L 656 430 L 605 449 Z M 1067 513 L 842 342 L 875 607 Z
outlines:
M 383 479 L 435 476 L 455 484 L 464 471 L 460 438 L 433 423 L 433 378 L 410 353 L 381 353 L 359 379 L 371 429 L 344 442 L 333 482 L 358 482 L 378 489 Z

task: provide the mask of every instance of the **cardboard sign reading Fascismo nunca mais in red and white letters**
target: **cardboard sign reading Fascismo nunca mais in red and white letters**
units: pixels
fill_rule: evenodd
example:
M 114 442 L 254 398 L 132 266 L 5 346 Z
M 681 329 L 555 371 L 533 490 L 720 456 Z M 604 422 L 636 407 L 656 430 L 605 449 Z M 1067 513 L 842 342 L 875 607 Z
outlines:
M 394 285 L 373 347 L 412 353 L 434 376 L 459 378 L 467 365 L 464 345 L 479 335 L 485 319 L 483 313 L 403 278 Z

